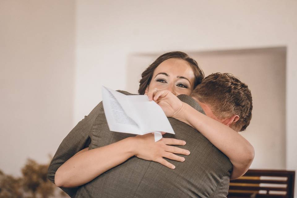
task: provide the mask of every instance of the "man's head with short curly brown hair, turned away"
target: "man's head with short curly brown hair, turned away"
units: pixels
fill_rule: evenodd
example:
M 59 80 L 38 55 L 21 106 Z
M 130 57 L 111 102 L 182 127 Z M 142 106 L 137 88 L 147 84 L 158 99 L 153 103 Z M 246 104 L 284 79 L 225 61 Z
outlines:
M 244 131 L 251 121 L 251 91 L 231 74 L 215 73 L 205 77 L 191 96 L 207 116 L 235 131 Z

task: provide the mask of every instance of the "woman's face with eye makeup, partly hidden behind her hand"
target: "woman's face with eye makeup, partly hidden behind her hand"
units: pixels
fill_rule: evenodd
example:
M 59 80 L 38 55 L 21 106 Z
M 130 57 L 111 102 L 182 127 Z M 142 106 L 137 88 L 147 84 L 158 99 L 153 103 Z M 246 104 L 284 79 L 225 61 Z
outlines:
M 157 88 L 167 89 L 174 95 L 190 95 L 194 89 L 195 75 L 189 63 L 179 58 L 169 58 L 155 69 L 145 92 Z

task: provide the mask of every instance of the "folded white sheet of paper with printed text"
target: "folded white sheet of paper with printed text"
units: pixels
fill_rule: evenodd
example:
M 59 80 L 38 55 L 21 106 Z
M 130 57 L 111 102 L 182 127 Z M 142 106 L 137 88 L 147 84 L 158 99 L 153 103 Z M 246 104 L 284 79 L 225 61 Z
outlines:
M 144 135 L 161 131 L 175 134 L 162 108 L 146 95 L 125 95 L 102 86 L 105 117 L 110 131 Z

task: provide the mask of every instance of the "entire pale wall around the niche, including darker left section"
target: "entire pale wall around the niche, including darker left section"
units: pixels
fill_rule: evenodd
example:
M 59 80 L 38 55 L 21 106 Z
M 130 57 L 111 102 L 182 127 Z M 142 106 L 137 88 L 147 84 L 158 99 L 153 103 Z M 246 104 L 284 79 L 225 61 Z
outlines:
M 102 84 L 127 88 L 131 55 L 286 46 L 286 167 L 296 169 L 296 10 L 271 0 L 0 1 L 0 141 L 10 148 L 0 167 L 15 173 L 54 154 Z

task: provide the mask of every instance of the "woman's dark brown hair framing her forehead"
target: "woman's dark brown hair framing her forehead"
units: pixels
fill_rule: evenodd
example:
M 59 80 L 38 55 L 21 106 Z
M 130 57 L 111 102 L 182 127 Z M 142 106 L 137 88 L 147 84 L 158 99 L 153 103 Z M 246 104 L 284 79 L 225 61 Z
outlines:
M 161 64 L 161 62 L 169 59 L 169 58 L 179 58 L 187 61 L 192 67 L 193 73 L 195 75 L 194 88 L 201 83 L 204 78 L 203 71 L 199 68 L 198 63 L 191 57 L 189 57 L 186 53 L 180 51 L 168 52 L 159 56 L 152 64 L 149 65 L 148 68 L 141 74 L 141 80 L 139 81 L 139 89 L 138 93 L 140 95 L 144 95 L 146 87 L 152 80 L 153 73 L 155 69 Z

